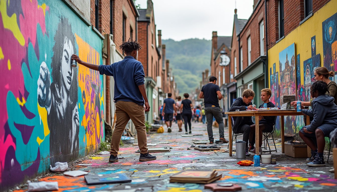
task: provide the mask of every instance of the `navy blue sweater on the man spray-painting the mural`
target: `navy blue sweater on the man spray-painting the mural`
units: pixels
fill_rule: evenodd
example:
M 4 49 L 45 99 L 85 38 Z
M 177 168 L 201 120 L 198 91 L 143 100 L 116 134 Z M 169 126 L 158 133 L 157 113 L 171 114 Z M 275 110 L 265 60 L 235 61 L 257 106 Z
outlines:
M 101 75 L 114 76 L 115 103 L 118 101 L 133 102 L 144 105 L 144 98 L 138 86 L 144 84 L 144 69 L 141 62 L 132 56 L 124 57 L 124 60 L 111 65 L 98 66 Z

